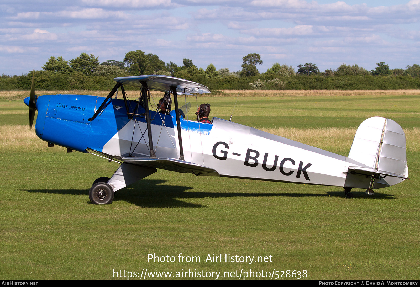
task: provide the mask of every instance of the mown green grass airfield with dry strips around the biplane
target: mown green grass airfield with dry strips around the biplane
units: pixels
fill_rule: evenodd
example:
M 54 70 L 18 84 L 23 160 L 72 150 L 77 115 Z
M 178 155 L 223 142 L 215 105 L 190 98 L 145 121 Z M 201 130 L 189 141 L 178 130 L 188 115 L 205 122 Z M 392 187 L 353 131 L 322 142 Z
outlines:
M 188 269 L 221 271 L 220 277 L 274 269 L 306 270 L 307 279 L 419 279 L 420 93 L 371 92 L 244 94 L 232 121 L 347 155 L 367 117 L 396 120 L 406 133 L 410 180 L 374 196 L 355 189 L 348 199 L 337 187 L 160 170 L 119 190 L 106 206 L 90 204 L 88 190 L 118 165 L 48 148 L 27 128 L 27 107 L 11 100 L 18 96 L 0 94 L 0 277 L 112 279 L 114 269 L 147 268 L 172 276 Z M 190 116 L 197 103 L 208 102 L 211 115 L 225 119 L 235 100 L 186 99 Z M 154 253 L 176 261 L 148 262 Z M 179 263 L 179 253 L 201 262 Z M 208 254 L 272 256 L 273 262 L 213 263 Z

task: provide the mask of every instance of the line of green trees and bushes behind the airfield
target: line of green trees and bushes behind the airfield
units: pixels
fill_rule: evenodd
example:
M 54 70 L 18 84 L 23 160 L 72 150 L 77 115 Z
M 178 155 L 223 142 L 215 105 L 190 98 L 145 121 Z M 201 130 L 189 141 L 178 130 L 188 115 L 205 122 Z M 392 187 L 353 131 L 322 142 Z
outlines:
M 420 65 L 405 69 L 390 69 L 384 62 L 376 63 L 373 70 L 342 64 L 336 69 L 321 72 L 312 63 L 299 64 L 297 72 L 292 66 L 274 63 L 260 73 L 257 65 L 263 61 L 257 53 L 242 58 L 242 70 L 231 72 L 228 68 L 216 69 L 210 63 L 206 69 L 197 68 L 191 59 L 184 58 L 182 65 L 165 63 L 157 55 L 142 50 L 130 51 L 122 61 L 99 62 L 99 57 L 81 53 L 79 57 L 64 60 L 50 57 L 35 71 L 37 89 L 111 89 L 113 78 L 160 74 L 195 81 L 213 90 L 220 89 L 419 89 Z M 26 75 L 0 78 L 0 90 L 29 89 L 32 71 Z

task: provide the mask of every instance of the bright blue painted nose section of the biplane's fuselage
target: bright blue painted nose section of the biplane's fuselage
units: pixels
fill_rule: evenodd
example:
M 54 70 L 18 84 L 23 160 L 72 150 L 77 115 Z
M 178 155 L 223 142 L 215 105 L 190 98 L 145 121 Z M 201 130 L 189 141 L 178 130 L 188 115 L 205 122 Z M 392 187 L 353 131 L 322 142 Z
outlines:
M 123 100 L 110 99 L 103 111 L 92 122 L 88 119 L 102 104 L 103 97 L 87 95 L 45 95 L 37 99 L 36 133 L 44 141 L 81 152 L 86 149 L 101 151 L 102 147 L 130 120 Z M 133 112 L 136 102 L 130 101 Z M 139 107 L 138 113 L 144 113 Z M 155 112 L 150 112 L 151 117 Z M 144 117 L 138 121 L 145 122 Z M 159 124 L 160 117 L 154 124 Z M 172 121 L 170 121 L 172 122 Z M 168 123 L 166 123 L 168 126 Z M 169 125 L 171 126 L 172 123 Z M 173 127 L 173 125 L 172 125 Z

